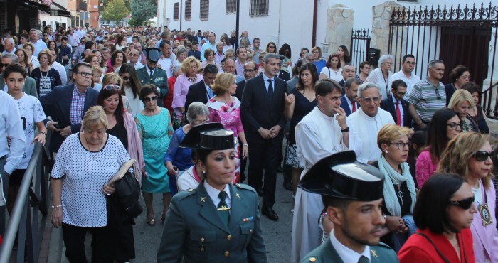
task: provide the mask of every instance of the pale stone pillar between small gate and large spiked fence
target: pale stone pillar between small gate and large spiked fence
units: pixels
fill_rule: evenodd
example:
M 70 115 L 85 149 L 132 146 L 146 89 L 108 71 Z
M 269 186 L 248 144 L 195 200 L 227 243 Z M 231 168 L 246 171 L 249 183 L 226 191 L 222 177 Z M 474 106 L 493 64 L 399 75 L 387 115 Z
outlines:
M 380 49 L 381 55 L 388 54 L 389 19 L 391 19 L 391 14 L 393 13 L 393 11 L 397 10 L 398 8 L 403 8 L 403 6 L 396 3 L 395 1 L 386 1 L 382 4 L 379 4 L 378 6 L 372 7 L 373 28 L 372 28 L 372 41 L 370 47 Z M 402 36 L 400 32 L 400 36 L 398 36 L 398 38 L 401 37 Z M 396 38 L 393 38 L 393 43 L 396 43 Z M 398 43 L 401 43 L 401 41 L 398 41 Z M 393 63 L 398 63 L 399 58 L 395 59 L 396 62 L 393 61 Z M 396 65 L 399 65 L 399 63 Z

